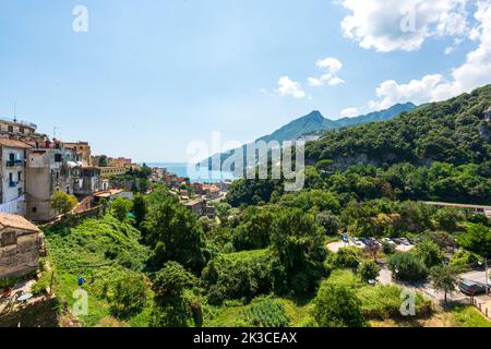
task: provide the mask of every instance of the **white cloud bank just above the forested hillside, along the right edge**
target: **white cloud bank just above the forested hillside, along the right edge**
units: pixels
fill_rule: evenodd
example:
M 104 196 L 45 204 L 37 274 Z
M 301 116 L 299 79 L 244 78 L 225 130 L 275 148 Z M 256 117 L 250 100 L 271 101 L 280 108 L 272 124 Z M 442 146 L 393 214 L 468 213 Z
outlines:
M 479 46 L 453 70 L 450 79 L 432 74 L 407 84 L 385 81 L 376 88 L 376 96 L 381 99 L 370 101 L 369 107 L 384 109 L 408 100 L 416 104 L 438 101 L 491 83 L 491 1 L 479 1 L 477 5 L 474 16 L 479 26 L 474 29 L 474 35 L 479 39 Z

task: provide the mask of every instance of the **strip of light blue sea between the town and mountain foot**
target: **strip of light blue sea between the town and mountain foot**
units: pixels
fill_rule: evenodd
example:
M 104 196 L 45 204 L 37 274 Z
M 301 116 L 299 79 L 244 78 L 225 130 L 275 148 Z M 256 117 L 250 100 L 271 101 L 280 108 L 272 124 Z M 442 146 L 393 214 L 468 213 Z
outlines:
M 216 183 L 235 179 L 233 173 L 208 170 L 205 167 L 201 167 L 196 171 L 189 172 L 188 164 L 183 163 L 146 163 L 146 165 L 149 167 L 166 168 L 169 173 L 173 173 L 179 177 L 187 177 L 191 182 L 197 183 Z

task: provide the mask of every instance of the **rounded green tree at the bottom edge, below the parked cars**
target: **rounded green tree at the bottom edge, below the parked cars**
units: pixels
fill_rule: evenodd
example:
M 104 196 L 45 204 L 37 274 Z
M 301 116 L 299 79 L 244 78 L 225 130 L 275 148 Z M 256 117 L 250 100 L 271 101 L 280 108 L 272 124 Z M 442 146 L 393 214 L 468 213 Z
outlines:
M 361 301 L 346 286 L 324 282 L 314 299 L 313 315 L 322 327 L 364 327 Z

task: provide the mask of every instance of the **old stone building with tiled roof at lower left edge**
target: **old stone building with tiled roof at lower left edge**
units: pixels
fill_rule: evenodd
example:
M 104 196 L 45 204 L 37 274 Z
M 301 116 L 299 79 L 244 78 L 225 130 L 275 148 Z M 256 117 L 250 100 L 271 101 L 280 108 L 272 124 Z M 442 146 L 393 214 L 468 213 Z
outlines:
M 35 272 L 43 232 L 24 217 L 0 213 L 0 279 Z

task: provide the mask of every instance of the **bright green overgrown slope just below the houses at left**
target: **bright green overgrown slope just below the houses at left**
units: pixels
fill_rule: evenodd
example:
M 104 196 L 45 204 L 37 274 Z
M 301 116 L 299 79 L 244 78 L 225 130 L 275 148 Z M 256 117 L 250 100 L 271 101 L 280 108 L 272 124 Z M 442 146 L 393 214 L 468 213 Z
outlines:
M 149 251 L 139 243 L 140 232 L 130 225 L 107 215 L 86 219 L 74 228 L 57 226 L 46 229 L 50 264 L 55 270 L 53 291 L 70 309 L 77 299 L 77 279 L 85 279 L 82 288 L 88 293 L 88 314 L 80 318 L 85 326 L 111 324 L 146 326 L 153 294 L 144 309 L 121 322 L 112 316 L 108 299 L 116 282 L 125 276 L 142 276 Z M 50 279 L 40 280 L 39 289 Z

